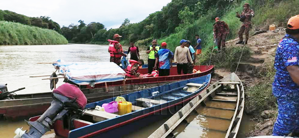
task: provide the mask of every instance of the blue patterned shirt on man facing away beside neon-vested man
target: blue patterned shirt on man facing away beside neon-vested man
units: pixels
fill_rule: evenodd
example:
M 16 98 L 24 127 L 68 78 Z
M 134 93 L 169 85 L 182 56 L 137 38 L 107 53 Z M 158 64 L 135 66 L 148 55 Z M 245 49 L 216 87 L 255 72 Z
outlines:
M 169 49 L 160 49 L 155 55 L 159 58 L 159 69 L 170 69 L 170 59 L 173 57 L 173 53 Z

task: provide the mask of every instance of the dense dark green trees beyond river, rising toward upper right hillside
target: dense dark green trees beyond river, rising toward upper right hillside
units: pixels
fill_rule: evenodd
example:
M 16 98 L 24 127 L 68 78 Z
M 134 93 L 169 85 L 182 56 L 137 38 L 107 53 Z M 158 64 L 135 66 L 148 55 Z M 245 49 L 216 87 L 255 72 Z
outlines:
M 221 16 L 225 13 L 228 5 L 240 0 L 172 0 L 161 11 L 156 11 L 139 23 L 130 23 L 125 19 L 123 24 L 117 29 L 104 28 L 101 23 L 84 24 L 79 21 L 79 25 L 71 24 L 62 27 L 62 34 L 72 43 L 105 43 L 107 39 L 112 39 L 113 34 L 118 33 L 123 36 L 122 40 L 139 41 L 140 45 L 146 45 L 152 38 L 161 38 L 170 34 L 180 32 L 186 26 L 195 22 L 205 14 L 210 14 L 211 8 L 219 9 L 213 12 L 213 16 Z M 101 24 L 101 27 L 95 27 Z M 181 38 L 178 38 L 181 39 Z

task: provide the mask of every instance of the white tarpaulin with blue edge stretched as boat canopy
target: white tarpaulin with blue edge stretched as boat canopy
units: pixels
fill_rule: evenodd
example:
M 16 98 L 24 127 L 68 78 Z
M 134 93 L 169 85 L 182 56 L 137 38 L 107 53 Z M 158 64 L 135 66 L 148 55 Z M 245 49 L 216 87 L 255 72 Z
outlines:
M 94 85 L 103 82 L 124 80 L 126 72 L 112 62 L 105 63 L 70 63 L 58 60 L 55 67 L 70 81 L 79 85 Z

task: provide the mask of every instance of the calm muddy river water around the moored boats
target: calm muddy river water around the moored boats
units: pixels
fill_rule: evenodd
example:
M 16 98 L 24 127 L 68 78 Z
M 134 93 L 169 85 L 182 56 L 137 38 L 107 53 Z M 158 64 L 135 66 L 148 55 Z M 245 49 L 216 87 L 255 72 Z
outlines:
M 123 47 L 123 49 L 128 50 L 128 47 Z M 145 48 L 140 48 L 140 55 L 141 59 L 147 62 Z M 51 64 L 37 63 L 52 63 L 58 59 L 65 62 L 109 62 L 110 56 L 107 45 L 0 46 L 0 83 L 7 83 L 9 91 L 25 87 L 25 89 L 15 92 L 16 94 L 49 92 L 51 91 L 49 80 L 41 80 L 46 77 L 29 76 L 51 75 L 55 71 Z M 57 86 L 61 84 L 63 84 L 62 79 L 58 81 Z M 159 125 L 162 122 L 155 124 Z M 149 126 L 135 134 L 149 134 L 159 127 L 158 125 Z M 249 118 L 245 116 L 238 138 L 245 138 L 242 134 L 251 130 L 252 125 Z M 0 138 L 12 138 L 14 130 L 19 127 L 28 128 L 22 119 L 17 121 L 0 120 Z M 139 135 L 139 137 L 147 136 Z

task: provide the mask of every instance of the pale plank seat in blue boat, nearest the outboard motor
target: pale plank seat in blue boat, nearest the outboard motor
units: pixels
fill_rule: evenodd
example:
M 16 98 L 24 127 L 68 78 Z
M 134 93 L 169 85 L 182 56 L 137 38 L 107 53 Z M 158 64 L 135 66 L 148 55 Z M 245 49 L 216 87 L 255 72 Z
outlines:
M 86 110 L 84 112 L 85 115 L 89 115 L 93 117 L 94 121 L 100 122 L 106 119 L 112 119 L 115 118 L 119 115 L 116 114 L 111 114 L 111 113 L 107 113 L 107 112 L 103 112 L 103 111 L 98 111 L 98 110 Z

